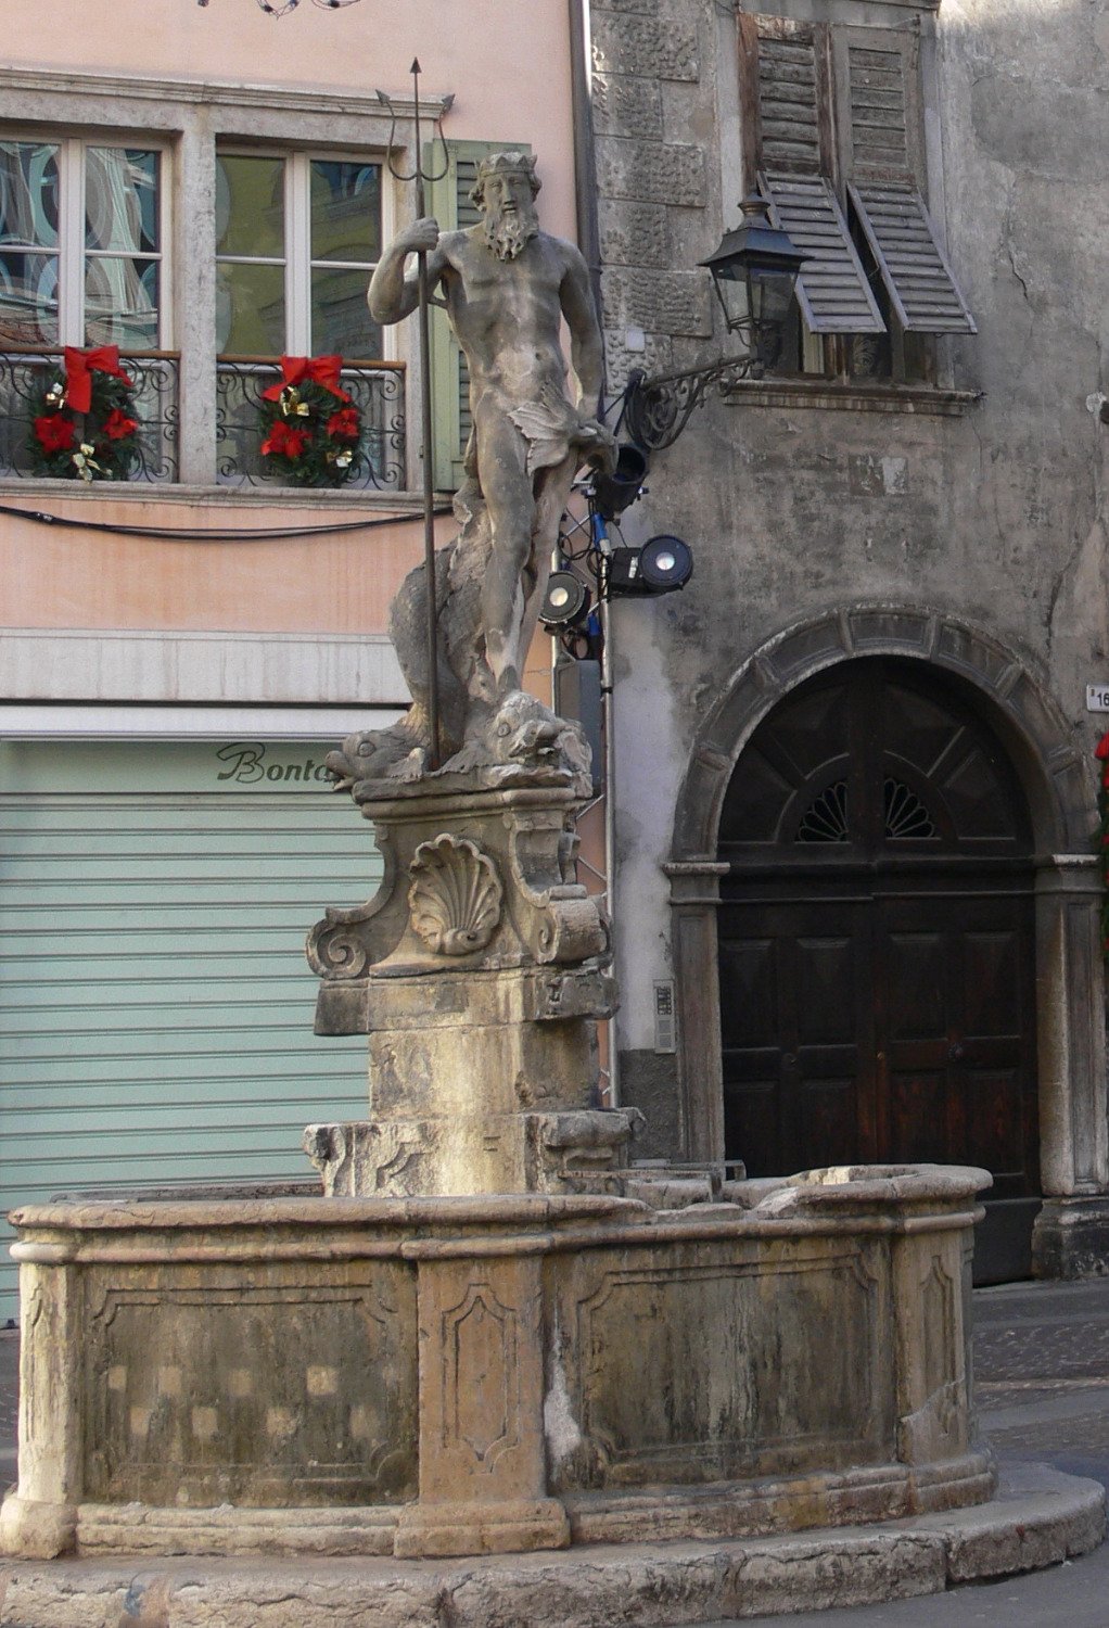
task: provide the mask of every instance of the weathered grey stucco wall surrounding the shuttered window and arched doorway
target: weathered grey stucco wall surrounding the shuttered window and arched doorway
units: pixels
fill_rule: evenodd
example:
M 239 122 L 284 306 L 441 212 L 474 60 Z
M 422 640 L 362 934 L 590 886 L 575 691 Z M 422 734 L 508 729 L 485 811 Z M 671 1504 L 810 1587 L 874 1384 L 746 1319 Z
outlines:
M 614 386 L 627 366 L 682 366 L 723 344 L 708 339 L 707 277 L 690 270 L 739 197 L 736 34 L 723 11 L 594 3 Z M 834 15 L 904 26 L 912 8 L 845 0 Z M 635 946 L 620 965 L 624 1078 L 648 1109 L 673 1079 L 673 1060 L 651 1050 L 651 980 L 671 972 L 661 864 L 676 798 L 699 723 L 759 646 L 863 601 L 930 607 L 1039 672 L 1083 754 L 1099 733 L 1085 685 L 1106 677 L 1109 431 L 1088 397 L 1106 387 L 1109 11 L 943 0 L 935 29 L 930 194 L 979 329 L 940 342 L 938 378 L 982 399 L 861 412 L 818 405 L 816 392 L 778 405 L 739 392 L 658 454 L 650 495 L 627 516 L 627 540 L 676 531 L 695 555 L 682 594 L 624 602 L 614 617 L 617 908 L 620 943 Z M 629 353 L 629 327 L 645 350 Z M 1093 781 L 1089 809 L 1093 824 Z

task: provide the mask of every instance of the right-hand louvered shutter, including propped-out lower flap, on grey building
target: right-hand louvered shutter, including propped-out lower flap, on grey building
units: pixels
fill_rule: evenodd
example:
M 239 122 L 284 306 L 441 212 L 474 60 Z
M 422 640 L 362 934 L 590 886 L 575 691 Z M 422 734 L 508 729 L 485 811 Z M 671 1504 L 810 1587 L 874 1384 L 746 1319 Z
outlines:
M 974 334 L 923 200 L 917 50 L 915 31 L 835 31 L 847 192 L 901 327 L 909 334 Z

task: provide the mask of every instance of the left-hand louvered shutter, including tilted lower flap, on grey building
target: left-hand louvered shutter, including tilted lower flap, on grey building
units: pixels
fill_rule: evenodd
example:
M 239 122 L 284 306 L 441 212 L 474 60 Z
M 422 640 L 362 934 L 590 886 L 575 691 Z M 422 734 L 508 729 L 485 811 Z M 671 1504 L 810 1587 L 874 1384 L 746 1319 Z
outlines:
M 770 217 L 813 259 L 796 298 L 811 334 L 884 334 L 866 274 L 831 186 L 832 83 L 827 28 L 739 16 L 744 147 Z

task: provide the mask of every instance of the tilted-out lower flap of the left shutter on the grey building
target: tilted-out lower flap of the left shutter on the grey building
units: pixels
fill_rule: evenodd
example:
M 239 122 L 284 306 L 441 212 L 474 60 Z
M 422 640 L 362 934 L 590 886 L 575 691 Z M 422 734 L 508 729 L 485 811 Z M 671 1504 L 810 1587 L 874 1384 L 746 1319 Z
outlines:
M 884 334 L 886 324 L 866 282 L 844 212 L 824 176 L 759 176 L 770 218 L 811 254 L 796 280 L 796 298 L 811 334 Z

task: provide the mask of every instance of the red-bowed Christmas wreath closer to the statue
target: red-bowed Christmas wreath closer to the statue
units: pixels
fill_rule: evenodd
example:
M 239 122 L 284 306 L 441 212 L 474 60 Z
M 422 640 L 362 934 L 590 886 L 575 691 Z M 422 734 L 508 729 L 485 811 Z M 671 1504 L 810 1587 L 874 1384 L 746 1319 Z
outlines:
M 262 461 L 296 487 L 340 487 L 362 440 L 362 414 L 339 383 L 342 357 L 282 357 L 262 391 Z

